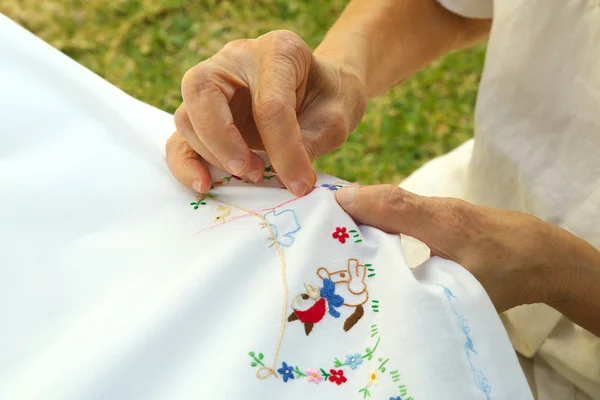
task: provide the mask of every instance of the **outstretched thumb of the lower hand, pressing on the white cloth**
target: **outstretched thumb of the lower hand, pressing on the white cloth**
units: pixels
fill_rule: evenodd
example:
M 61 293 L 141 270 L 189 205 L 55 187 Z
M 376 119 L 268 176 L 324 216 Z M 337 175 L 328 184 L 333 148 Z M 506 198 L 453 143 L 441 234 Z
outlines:
M 384 232 L 412 236 L 430 247 L 437 247 L 447 235 L 444 199 L 419 196 L 394 185 L 345 187 L 336 198 L 357 222 Z

